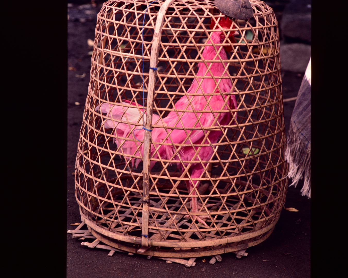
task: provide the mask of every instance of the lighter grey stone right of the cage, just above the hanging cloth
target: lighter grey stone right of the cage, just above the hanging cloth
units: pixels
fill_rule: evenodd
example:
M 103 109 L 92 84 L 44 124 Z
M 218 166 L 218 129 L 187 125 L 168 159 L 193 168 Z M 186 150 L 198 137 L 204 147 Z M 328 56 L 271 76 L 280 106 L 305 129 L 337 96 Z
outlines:
M 282 70 L 305 72 L 311 55 L 311 46 L 304 43 L 280 43 Z

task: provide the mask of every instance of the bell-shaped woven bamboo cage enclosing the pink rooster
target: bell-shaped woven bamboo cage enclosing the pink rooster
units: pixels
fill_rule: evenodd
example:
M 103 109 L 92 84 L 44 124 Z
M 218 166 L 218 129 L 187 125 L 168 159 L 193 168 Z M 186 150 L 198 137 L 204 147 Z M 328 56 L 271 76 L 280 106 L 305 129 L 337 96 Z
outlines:
M 273 10 L 251 0 L 254 16 L 247 21 L 232 19 L 239 33 L 236 43 L 215 44 L 217 49 L 232 47 L 227 60 L 221 61 L 202 55 L 204 47 L 212 46 L 208 38 L 216 29 L 210 29 L 211 22 L 218 24 L 224 17 L 213 1 L 150 3 L 111 0 L 98 14 L 75 170 L 81 220 L 103 243 L 151 256 L 207 256 L 259 244 L 273 231 L 287 188 L 279 35 Z M 227 77 L 196 75 L 198 63 L 222 62 Z M 204 78 L 215 80 L 216 88 L 223 78 L 229 79 L 230 92 L 217 89 L 200 95 L 208 99 L 220 94 L 226 100 L 235 96 L 237 108 L 195 111 L 188 106 L 178 112 L 175 103 L 192 97 L 195 93 L 187 91 L 193 80 Z M 103 113 L 102 104 L 124 113 L 118 118 Z M 137 121 L 126 114 L 131 108 L 141 115 Z M 191 127 L 165 126 L 161 120 L 171 111 L 195 113 L 197 121 Z M 215 115 L 213 124 L 200 123 L 204 113 Z M 230 113 L 231 120 L 221 124 L 217 116 L 221 113 Z M 158 119 L 152 121 L 155 115 Z M 105 124 L 108 120 L 114 126 L 126 125 L 128 132 L 118 134 Z M 141 130 L 143 126 L 148 130 Z M 149 131 L 154 128 L 165 130 L 169 140 L 155 142 Z M 203 130 L 205 141 L 171 141 L 176 132 L 184 131 L 189 138 L 197 130 Z M 214 131 L 221 135 L 211 142 L 208 135 Z M 138 148 L 129 153 L 120 142 Z M 164 145 L 174 149 L 172 157 L 160 153 Z M 205 160 L 199 153 L 203 147 L 213 150 Z M 183 160 L 190 150 L 195 155 Z M 194 181 L 192 165 L 204 169 Z M 197 184 L 190 192 L 189 181 Z M 190 207 L 191 197 L 197 197 L 198 212 Z

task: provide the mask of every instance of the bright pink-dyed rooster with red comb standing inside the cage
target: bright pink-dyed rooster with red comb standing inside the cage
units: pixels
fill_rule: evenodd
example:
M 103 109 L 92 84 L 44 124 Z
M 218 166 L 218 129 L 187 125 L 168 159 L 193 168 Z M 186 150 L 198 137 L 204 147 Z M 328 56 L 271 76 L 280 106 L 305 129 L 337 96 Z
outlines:
M 221 18 L 220 19 L 220 26 L 223 29 L 231 29 L 232 26 L 231 19 L 227 18 Z M 214 27 L 214 22 L 211 24 L 211 29 Z M 238 35 L 238 32 L 232 31 L 230 33 L 230 40 L 232 42 L 235 42 L 234 36 Z M 211 35 L 211 38 L 209 40 L 210 43 L 213 43 L 214 45 L 216 43 L 226 43 L 226 37 L 224 36 L 222 31 L 216 31 L 213 32 Z M 208 43 L 209 43 L 208 42 Z M 202 57 L 205 60 L 226 60 L 227 55 L 223 47 L 215 46 L 216 50 L 219 51 L 219 54 L 216 55 L 216 51 L 214 46 L 205 46 Z M 230 48 L 230 49 L 226 49 Z M 232 50 L 231 47 L 226 47 L 225 49 L 227 51 Z M 211 63 L 206 63 L 207 66 Z M 225 63 L 225 67 L 227 67 L 227 63 Z M 212 63 L 210 67 L 210 72 L 215 77 L 215 80 L 213 78 L 204 78 L 203 81 L 198 78 L 193 80 L 190 88 L 187 90 L 187 93 L 189 94 L 205 94 L 205 93 L 213 93 L 214 89 L 216 93 L 215 95 L 190 95 L 190 96 L 183 96 L 175 103 L 175 108 L 179 110 L 192 110 L 192 111 L 209 111 L 205 113 L 194 113 L 194 112 L 175 112 L 171 111 L 169 112 L 168 116 L 159 119 L 159 116 L 156 114 L 152 115 L 152 125 L 163 125 L 167 127 L 167 131 L 164 128 L 155 127 L 152 129 L 151 136 L 153 142 L 155 142 L 155 145 L 151 144 L 151 157 L 158 158 L 159 156 L 161 159 L 168 159 L 168 160 L 182 160 L 182 161 L 191 161 L 191 160 L 210 160 L 213 156 L 214 149 L 212 146 L 203 146 L 200 147 L 200 150 L 198 151 L 199 147 L 192 146 L 191 144 L 214 144 L 216 143 L 222 132 L 221 130 L 212 130 L 212 131 L 203 131 L 203 130 L 188 130 L 188 128 L 193 127 L 211 127 L 211 126 L 218 126 L 218 125 L 229 125 L 232 122 L 232 114 L 230 112 L 213 112 L 216 110 L 228 110 L 230 109 L 236 109 L 237 103 L 236 98 L 234 95 L 223 95 L 224 92 L 231 93 L 232 90 L 232 83 L 230 79 L 218 79 L 216 77 L 222 77 L 226 76 L 228 77 L 228 73 L 225 71 L 225 67 L 222 65 L 222 63 Z M 204 63 L 198 64 L 198 72 L 197 76 L 211 76 L 209 71 L 207 71 L 207 67 Z M 201 85 L 199 86 L 199 83 L 201 82 Z M 218 86 L 216 87 L 216 84 Z M 221 92 L 221 93 L 220 93 Z M 124 105 L 136 105 L 136 103 L 130 103 L 129 101 L 122 101 Z M 141 110 L 137 108 L 122 108 L 122 106 L 110 106 L 110 104 L 104 103 L 100 106 L 96 107 L 96 111 L 99 109 L 103 113 L 107 113 L 107 116 L 110 117 L 113 120 L 105 120 L 104 121 L 104 127 L 105 128 L 115 128 L 115 133 L 118 137 L 124 137 L 124 138 L 130 138 L 130 140 L 122 140 L 122 139 L 114 139 L 114 142 L 116 142 L 118 148 L 121 146 L 122 151 L 125 154 L 128 155 L 136 155 L 136 156 L 143 156 L 143 145 L 141 140 L 144 139 L 144 130 L 143 129 L 137 129 L 139 126 L 136 126 L 134 128 L 134 125 L 131 125 L 131 123 L 138 123 L 143 124 L 143 117 L 142 117 L 142 106 L 139 106 Z M 235 113 L 236 116 L 236 113 Z M 145 118 L 145 117 L 144 117 Z M 217 119 L 216 119 L 217 118 Z M 128 122 L 128 124 L 117 122 L 114 120 L 121 120 Z M 170 127 L 183 127 L 184 129 L 170 129 Z M 130 132 L 130 130 L 133 129 L 133 132 Z M 169 136 L 168 133 L 170 134 Z M 134 138 L 134 136 L 135 138 Z M 132 138 L 133 137 L 133 138 Z M 167 137 L 167 138 L 166 138 Z M 132 139 L 131 139 L 132 138 Z M 156 142 L 163 142 L 163 143 L 169 143 L 171 145 L 159 145 L 156 144 Z M 175 146 L 175 144 L 190 144 L 190 146 L 183 146 L 180 148 L 180 146 Z M 139 146 L 140 145 L 140 146 Z M 157 152 L 155 153 L 155 150 Z M 138 149 L 138 150 L 137 150 Z M 174 156 L 174 153 L 176 152 L 176 149 L 180 149 L 179 152 Z M 198 151 L 198 153 L 196 153 Z M 180 159 L 179 159 L 180 157 Z M 141 159 L 134 159 L 132 158 L 132 165 L 134 165 L 135 160 L 135 166 L 137 167 L 141 161 Z M 151 161 L 150 169 L 155 165 L 156 161 Z M 184 162 L 183 164 L 181 162 L 177 163 L 177 167 L 181 169 L 181 172 L 183 173 L 185 171 L 185 168 L 187 168 L 190 165 L 190 163 Z M 191 179 L 189 181 L 186 181 L 186 186 L 188 188 L 189 194 L 197 195 L 197 189 L 199 186 L 199 180 L 195 180 L 196 178 L 200 178 L 204 174 L 204 167 L 206 167 L 205 163 L 192 163 L 187 171 Z M 191 198 L 191 212 L 197 213 L 198 212 L 198 203 L 197 203 L 197 197 Z M 186 215 L 185 217 L 188 217 Z M 207 218 L 208 215 L 200 215 L 196 216 L 195 220 L 198 222 L 204 224 L 206 227 L 208 225 L 203 221 L 203 218 Z

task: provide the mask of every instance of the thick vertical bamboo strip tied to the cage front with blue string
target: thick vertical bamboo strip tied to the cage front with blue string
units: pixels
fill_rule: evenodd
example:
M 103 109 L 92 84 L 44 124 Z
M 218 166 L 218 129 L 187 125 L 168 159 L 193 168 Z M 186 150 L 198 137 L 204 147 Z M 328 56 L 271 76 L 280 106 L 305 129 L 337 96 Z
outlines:
M 157 20 L 155 25 L 155 32 L 153 34 L 151 56 L 150 56 L 150 67 L 157 67 L 158 54 L 163 26 L 164 15 L 168 7 L 175 0 L 166 0 L 157 14 Z M 150 69 L 149 72 L 149 86 L 148 86 L 148 100 L 146 107 L 146 120 L 145 128 L 152 129 L 152 108 L 153 108 L 153 93 L 155 91 L 156 83 L 156 72 Z M 148 235 L 149 235 L 149 191 L 150 191 L 150 156 L 151 156 L 151 132 L 145 130 L 144 134 L 144 168 L 143 168 L 143 209 L 142 209 L 142 227 L 141 227 L 141 245 L 149 246 Z

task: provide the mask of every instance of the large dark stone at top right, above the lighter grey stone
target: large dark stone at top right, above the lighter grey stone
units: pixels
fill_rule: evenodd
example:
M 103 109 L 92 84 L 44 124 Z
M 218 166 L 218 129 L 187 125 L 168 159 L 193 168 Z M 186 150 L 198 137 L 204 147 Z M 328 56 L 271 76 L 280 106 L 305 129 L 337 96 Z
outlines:
M 283 11 L 283 37 L 311 42 L 311 0 L 293 0 Z

